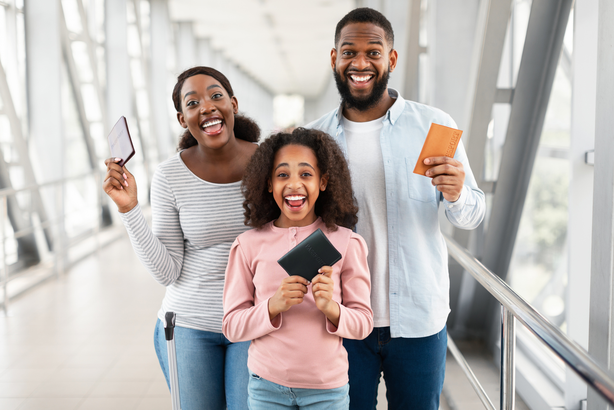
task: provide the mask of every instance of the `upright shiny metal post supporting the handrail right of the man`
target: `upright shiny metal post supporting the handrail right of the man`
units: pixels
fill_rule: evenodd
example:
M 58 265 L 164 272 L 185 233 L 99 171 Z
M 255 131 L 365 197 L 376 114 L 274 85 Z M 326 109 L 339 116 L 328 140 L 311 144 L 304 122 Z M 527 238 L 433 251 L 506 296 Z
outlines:
M 501 393 L 500 409 L 514 410 L 516 392 L 516 322 L 501 306 Z

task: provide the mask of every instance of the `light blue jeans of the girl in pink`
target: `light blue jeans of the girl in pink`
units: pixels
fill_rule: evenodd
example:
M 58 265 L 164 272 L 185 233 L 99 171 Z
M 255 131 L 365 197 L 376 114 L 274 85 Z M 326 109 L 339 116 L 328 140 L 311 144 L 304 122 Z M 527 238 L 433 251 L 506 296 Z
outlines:
M 348 410 L 349 385 L 337 388 L 290 388 L 249 372 L 249 410 Z

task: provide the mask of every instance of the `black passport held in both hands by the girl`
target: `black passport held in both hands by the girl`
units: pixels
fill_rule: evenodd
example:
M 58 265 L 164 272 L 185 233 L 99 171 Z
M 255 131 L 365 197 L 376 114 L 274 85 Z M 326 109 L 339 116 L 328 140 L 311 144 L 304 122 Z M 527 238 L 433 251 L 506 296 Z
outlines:
M 302 276 L 311 282 L 318 269 L 322 266 L 333 266 L 340 259 L 339 251 L 330 243 L 322 229 L 318 228 L 277 262 L 286 269 L 288 275 Z

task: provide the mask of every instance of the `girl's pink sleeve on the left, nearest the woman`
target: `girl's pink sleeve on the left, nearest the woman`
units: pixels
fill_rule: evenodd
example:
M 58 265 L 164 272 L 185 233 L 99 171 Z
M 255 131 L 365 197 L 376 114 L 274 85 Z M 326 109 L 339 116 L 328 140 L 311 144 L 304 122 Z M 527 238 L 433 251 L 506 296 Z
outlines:
M 230 248 L 222 304 L 222 333 L 231 342 L 244 342 L 265 336 L 281 327 L 281 313 L 269 318 L 268 299 L 254 306 L 254 274 L 239 240 Z

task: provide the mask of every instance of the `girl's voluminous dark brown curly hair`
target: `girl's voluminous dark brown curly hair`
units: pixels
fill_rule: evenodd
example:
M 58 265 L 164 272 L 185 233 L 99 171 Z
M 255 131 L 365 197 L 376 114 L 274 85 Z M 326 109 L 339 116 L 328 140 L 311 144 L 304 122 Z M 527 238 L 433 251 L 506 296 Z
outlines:
M 273 134 L 266 138 L 252 155 L 241 182 L 241 191 L 245 197 L 245 224 L 258 229 L 281 215 L 273 194 L 268 192 L 268 180 L 273 172 L 276 152 L 287 145 L 310 148 L 316 154 L 320 172 L 322 175 L 328 175 L 326 189 L 318 195 L 314 208 L 328 231 L 336 231 L 338 226 L 350 229 L 355 226 L 358 221 L 358 206 L 343 152 L 330 135 L 308 128 L 295 128 L 292 133 Z

